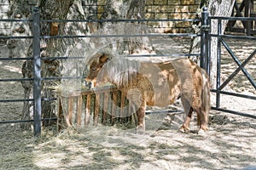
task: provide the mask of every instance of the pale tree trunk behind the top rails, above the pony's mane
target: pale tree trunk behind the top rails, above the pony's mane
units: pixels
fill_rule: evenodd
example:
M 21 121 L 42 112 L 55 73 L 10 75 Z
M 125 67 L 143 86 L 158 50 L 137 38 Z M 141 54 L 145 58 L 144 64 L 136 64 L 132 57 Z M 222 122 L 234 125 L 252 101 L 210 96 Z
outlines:
M 144 19 L 145 0 L 107 0 L 102 20 Z M 104 22 L 96 34 L 135 35 L 147 33 L 147 26 L 142 22 Z M 99 42 L 99 41 L 98 41 Z M 117 54 L 134 54 L 141 49 L 152 51 L 147 37 L 109 37 L 102 44 L 109 44 Z M 102 46 L 99 45 L 100 47 Z

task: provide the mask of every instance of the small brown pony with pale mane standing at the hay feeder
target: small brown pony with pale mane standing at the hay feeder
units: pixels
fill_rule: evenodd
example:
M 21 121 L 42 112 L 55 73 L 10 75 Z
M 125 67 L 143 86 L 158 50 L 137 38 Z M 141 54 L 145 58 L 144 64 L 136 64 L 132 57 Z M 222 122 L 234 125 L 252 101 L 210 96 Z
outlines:
M 210 89 L 207 73 L 189 59 L 153 63 L 99 52 L 87 60 L 85 78 L 94 87 L 111 82 L 137 105 L 137 132 L 145 131 L 145 109 L 167 106 L 181 98 L 186 119 L 180 131 L 189 132 L 192 112 L 197 113 L 199 133 L 207 131 Z

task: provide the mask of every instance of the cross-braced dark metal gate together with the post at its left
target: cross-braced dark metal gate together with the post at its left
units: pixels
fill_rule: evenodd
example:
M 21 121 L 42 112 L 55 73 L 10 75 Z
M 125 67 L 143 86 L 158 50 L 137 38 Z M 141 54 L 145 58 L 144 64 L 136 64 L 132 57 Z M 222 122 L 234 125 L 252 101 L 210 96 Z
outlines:
M 217 33 L 212 33 L 210 31 L 211 28 L 211 22 L 212 20 L 218 20 L 218 32 Z M 238 56 L 234 53 L 234 51 L 230 48 L 228 42 L 226 42 L 227 39 L 231 39 L 234 41 L 239 41 L 239 40 L 248 40 L 248 41 L 256 41 L 256 37 L 250 37 L 250 36 L 237 36 L 237 35 L 223 35 L 221 34 L 221 30 L 223 29 L 222 27 L 222 21 L 223 20 L 241 20 L 242 22 L 252 22 L 255 21 L 255 17 L 250 17 L 250 18 L 244 18 L 244 17 L 214 17 L 214 16 L 209 16 L 207 9 L 204 8 L 204 12 L 202 13 L 202 32 L 201 32 L 201 67 L 205 68 L 207 70 L 207 73 L 210 73 L 211 70 L 211 42 L 212 38 L 217 38 L 218 39 L 218 48 L 217 48 L 217 74 L 216 75 L 211 75 L 211 77 L 216 76 L 216 84 L 214 87 L 212 87 L 212 93 L 216 94 L 216 101 L 215 105 L 212 105 L 213 110 L 217 111 L 224 111 L 224 112 L 229 112 L 232 114 L 240 115 L 240 116 L 247 116 L 251 118 L 256 118 L 256 114 L 254 111 L 256 111 L 256 102 L 253 104 L 254 109 L 253 113 L 246 113 L 246 112 L 240 112 L 240 111 L 235 111 L 231 110 L 229 108 L 223 108 L 220 103 L 221 103 L 221 95 L 228 95 L 228 96 L 234 96 L 238 97 L 241 99 L 250 99 L 250 100 L 256 100 L 255 92 L 256 92 L 256 77 L 255 77 L 255 71 L 252 73 L 249 73 L 247 71 L 246 66 L 247 65 L 255 65 L 255 60 L 253 63 L 253 58 L 255 59 L 256 57 L 256 42 L 255 42 L 255 48 L 252 50 L 251 54 L 248 54 L 247 58 L 241 61 L 241 59 L 238 58 Z M 232 71 L 230 73 L 229 77 L 226 77 L 225 80 L 221 80 L 222 78 L 222 65 L 224 63 L 224 57 L 223 57 L 223 51 L 226 50 L 226 52 L 229 54 L 231 62 L 236 63 L 236 69 L 235 71 Z M 251 94 L 241 94 L 237 92 L 229 92 L 227 90 L 224 90 L 227 85 L 234 80 L 234 78 L 238 75 L 239 72 L 243 73 L 243 77 L 246 77 L 246 79 L 250 82 L 249 85 L 253 89 L 253 93 Z M 254 74 L 253 74 L 254 73 Z

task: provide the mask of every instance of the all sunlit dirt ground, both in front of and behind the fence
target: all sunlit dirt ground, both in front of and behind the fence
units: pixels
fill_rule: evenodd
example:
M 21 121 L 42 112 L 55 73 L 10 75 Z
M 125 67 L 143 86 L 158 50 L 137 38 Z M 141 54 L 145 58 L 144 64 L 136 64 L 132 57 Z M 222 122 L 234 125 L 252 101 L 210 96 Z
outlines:
M 174 41 L 188 49 L 189 39 Z M 242 60 L 255 50 L 256 42 L 230 41 L 230 46 Z M 1 57 L 9 53 L 3 44 L 0 52 Z M 235 69 L 227 58 L 224 55 L 225 77 Z M 255 63 L 254 56 L 247 66 L 254 80 Z M 21 60 L 1 60 L 0 78 L 20 78 L 21 65 Z M 20 82 L 0 82 L 0 90 L 1 99 L 23 98 Z M 255 95 L 241 75 L 230 82 L 229 90 Z M 255 100 L 224 96 L 221 105 L 256 114 Z M 21 111 L 22 102 L 0 103 L 0 120 L 19 120 Z M 45 128 L 41 137 L 34 138 L 32 132 L 20 130 L 19 124 L 0 124 L 0 169 L 256 169 L 256 119 L 211 111 L 210 129 L 199 135 L 195 119 L 191 133 L 179 133 L 180 117 L 178 113 L 150 114 L 143 135 L 133 128 L 98 125 L 61 133 L 55 127 Z

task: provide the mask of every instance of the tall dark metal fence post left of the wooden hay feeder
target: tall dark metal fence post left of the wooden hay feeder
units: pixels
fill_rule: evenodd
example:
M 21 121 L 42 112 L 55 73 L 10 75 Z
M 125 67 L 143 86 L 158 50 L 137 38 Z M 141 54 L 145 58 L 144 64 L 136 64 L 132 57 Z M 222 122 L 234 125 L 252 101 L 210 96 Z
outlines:
M 40 60 L 40 14 L 38 7 L 33 9 L 32 20 L 33 54 L 33 119 L 34 135 L 41 134 L 41 60 Z

